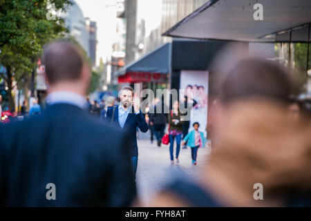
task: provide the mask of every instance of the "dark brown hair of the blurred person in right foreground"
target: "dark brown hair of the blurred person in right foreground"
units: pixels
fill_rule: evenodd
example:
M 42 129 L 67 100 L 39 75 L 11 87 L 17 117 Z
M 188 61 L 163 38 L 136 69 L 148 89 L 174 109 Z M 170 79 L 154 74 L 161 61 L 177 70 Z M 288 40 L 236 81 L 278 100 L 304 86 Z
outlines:
M 223 104 L 252 97 L 288 103 L 292 82 L 288 73 L 274 61 L 244 59 L 229 71 L 221 92 Z

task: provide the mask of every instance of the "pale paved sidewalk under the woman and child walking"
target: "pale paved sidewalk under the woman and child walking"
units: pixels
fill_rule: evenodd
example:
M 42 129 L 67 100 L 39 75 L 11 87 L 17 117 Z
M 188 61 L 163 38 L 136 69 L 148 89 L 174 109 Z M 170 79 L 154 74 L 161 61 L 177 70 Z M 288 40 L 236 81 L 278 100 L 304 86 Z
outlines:
M 176 143 L 174 145 L 174 157 Z M 169 145 L 158 147 L 156 142 L 138 140 L 138 171 L 136 175 L 138 196 L 144 205 L 148 205 L 162 186 L 178 177 L 194 179 L 202 165 L 207 163 L 209 148 L 199 148 L 198 165 L 191 164 L 191 150 L 180 148 L 179 164 L 171 165 Z

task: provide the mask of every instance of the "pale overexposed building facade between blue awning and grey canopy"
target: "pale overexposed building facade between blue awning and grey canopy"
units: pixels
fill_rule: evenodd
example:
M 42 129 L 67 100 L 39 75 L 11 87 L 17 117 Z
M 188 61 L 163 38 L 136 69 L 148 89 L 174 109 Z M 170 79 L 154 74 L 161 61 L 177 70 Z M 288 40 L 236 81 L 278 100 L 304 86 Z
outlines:
M 167 29 L 187 17 L 208 0 L 137 0 L 135 59 L 170 42 L 162 36 Z

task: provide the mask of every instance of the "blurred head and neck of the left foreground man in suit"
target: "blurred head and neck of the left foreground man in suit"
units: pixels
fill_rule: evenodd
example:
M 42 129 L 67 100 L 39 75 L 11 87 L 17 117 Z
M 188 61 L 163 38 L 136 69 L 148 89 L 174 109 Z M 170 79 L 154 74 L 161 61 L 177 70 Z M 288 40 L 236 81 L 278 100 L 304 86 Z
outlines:
M 84 55 L 69 41 L 55 41 L 46 46 L 43 55 L 50 90 L 71 90 L 84 95 L 91 71 Z

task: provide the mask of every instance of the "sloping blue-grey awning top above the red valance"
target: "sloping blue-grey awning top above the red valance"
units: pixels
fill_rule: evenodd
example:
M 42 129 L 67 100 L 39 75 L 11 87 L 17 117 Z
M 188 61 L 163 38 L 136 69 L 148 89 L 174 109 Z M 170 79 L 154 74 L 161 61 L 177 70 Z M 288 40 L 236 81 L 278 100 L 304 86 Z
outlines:
M 124 66 L 122 69 L 115 73 L 115 76 L 127 75 L 131 73 L 153 73 L 167 74 L 169 73 L 169 50 L 170 44 L 164 44 L 160 48 L 153 50 L 149 54 L 145 55 L 138 61 L 134 61 L 131 64 Z M 132 74 L 131 74 L 132 75 Z

